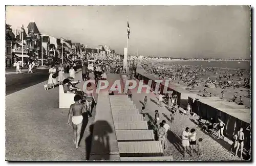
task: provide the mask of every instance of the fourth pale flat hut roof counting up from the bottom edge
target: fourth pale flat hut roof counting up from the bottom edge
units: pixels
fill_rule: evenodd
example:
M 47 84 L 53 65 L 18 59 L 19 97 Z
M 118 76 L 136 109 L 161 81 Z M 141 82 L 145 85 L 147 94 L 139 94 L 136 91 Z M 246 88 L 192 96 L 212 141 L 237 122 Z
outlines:
M 148 130 L 146 121 L 114 122 L 115 130 Z

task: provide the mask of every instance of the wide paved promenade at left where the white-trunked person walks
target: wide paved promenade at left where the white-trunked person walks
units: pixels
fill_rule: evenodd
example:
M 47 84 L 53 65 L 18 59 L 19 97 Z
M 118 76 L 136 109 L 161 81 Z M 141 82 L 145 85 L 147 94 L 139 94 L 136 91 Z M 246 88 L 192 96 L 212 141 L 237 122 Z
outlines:
M 81 80 L 81 73 L 75 80 Z M 78 149 L 66 125 L 69 109 L 58 108 L 59 88 L 45 90 L 47 81 L 6 96 L 6 160 L 85 160 L 89 118 Z M 81 88 L 82 83 L 77 87 Z

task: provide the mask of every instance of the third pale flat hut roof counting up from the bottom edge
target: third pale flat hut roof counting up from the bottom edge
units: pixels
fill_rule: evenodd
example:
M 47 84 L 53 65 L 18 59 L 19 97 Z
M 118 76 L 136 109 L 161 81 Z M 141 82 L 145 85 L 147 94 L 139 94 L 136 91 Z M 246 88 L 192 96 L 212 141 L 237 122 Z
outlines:
M 118 141 L 153 141 L 153 130 L 116 130 Z

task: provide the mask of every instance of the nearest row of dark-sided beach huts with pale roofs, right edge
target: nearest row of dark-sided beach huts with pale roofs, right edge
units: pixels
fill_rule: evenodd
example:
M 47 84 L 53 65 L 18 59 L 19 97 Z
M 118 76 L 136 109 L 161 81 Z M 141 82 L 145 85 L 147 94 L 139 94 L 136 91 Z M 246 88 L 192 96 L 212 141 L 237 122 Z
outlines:
M 232 139 L 233 135 L 237 133 L 240 127 L 244 128 L 244 147 L 250 148 L 250 131 L 245 130 L 250 126 L 251 112 L 249 108 L 239 106 L 236 103 L 227 101 L 215 101 L 211 98 L 188 97 L 189 103 L 192 105 L 192 111 L 198 114 L 205 120 L 213 118 L 217 122 L 218 116 L 226 124 L 225 136 Z

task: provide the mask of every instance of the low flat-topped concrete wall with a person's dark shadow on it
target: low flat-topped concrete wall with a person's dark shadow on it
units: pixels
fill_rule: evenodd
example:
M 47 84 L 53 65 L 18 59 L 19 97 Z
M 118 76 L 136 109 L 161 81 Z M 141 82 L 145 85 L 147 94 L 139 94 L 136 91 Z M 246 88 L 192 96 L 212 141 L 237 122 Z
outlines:
M 97 101 L 90 160 L 120 160 L 109 93 L 100 91 Z

